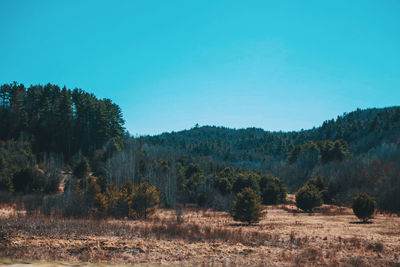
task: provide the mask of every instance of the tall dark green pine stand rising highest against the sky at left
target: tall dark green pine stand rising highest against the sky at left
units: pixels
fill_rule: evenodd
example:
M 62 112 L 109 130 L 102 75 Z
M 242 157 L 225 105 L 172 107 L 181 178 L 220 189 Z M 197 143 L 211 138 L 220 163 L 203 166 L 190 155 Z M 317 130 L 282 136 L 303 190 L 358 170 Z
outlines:
M 0 87 L 0 140 L 32 140 L 34 153 L 61 153 L 65 159 L 82 152 L 91 156 L 108 144 L 120 150 L 124 120 L 109 99 L 57 85 L 4 84 Z

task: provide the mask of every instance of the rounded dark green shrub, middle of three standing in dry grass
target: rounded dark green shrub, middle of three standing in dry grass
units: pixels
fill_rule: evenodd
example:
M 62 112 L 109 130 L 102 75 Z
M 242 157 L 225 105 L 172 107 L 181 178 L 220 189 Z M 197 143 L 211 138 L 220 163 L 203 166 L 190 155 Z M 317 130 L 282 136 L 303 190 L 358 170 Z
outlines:
M 322 205 L 321 193 L 315 186 L 305 185 L 296 193 L 296 206 L 311 212 L 313 208 Z

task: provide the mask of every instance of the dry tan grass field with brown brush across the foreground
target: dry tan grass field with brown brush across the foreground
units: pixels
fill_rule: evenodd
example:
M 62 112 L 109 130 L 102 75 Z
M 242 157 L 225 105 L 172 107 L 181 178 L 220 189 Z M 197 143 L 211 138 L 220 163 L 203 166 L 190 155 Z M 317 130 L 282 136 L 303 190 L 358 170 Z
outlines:
M 0 258 L 172 266 L 400 266 L 400 218 L 359 224 L 347 208 L 300 213 L 268 207 L 247 226 L 229 214 L 159 210 L 146 221 L 25 217 L 0 213 Z

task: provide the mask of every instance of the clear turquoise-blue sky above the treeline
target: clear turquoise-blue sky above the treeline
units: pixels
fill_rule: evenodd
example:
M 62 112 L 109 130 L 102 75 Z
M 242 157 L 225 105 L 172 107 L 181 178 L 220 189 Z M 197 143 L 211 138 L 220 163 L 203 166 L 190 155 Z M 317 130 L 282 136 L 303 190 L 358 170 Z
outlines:
M 298 130 L 400 104 L 400 1 L 0 1 L 0 83 L 110 98 L 132 134 Z

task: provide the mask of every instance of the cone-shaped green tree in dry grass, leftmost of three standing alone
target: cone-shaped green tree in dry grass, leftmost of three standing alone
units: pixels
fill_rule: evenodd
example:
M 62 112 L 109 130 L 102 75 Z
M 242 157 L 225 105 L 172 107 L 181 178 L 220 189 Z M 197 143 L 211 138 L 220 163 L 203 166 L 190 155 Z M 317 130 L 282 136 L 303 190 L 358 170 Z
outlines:
M 259 222 L 263 207 L 260 196 L 250 187 L 244 188 L 233 200 L 232 217 L 248 224 Z

